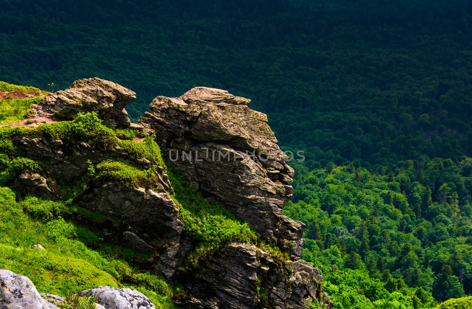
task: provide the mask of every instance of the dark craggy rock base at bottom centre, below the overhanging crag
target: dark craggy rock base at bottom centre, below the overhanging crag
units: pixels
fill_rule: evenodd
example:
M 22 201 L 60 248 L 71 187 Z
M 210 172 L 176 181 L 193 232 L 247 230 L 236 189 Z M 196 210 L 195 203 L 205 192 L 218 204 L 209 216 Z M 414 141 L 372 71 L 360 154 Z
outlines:
M 301 260 L 278 261 L 248 243 L 225 245 L 217 257 L 195 271 L 186 287 L 206 295 L 191 297 L 183 308 L 297 308 L 318 300 L 332 302 L 322 293 L 320 271 Z

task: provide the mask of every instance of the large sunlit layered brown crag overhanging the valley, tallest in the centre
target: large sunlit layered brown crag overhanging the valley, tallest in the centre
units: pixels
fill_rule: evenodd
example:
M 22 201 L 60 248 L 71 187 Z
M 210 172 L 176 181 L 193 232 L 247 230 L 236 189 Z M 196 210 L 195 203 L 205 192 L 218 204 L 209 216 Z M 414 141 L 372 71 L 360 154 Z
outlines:
M 282 213 L 293 194 L 294 171 L 267 116 L 249 102 L 197 87 L 180 98 L 155 98 L 139 123 L 159 132 L 172 164 L 194 188 L 227 206 L 261 238 L 298 256 L 304 224 Z

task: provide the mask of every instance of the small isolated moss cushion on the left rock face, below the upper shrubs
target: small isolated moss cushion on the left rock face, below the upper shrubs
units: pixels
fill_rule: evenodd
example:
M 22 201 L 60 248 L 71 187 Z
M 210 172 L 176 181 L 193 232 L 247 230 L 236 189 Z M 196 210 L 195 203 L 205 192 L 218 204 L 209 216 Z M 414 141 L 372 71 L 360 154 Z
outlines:
M 106 180 L 124 184 L 127 187 L 143 187 L 154 189 L 157 177 L 152 169 L 141 171 L 126 163 L 106 160 L 96 166 L 95 181 Z

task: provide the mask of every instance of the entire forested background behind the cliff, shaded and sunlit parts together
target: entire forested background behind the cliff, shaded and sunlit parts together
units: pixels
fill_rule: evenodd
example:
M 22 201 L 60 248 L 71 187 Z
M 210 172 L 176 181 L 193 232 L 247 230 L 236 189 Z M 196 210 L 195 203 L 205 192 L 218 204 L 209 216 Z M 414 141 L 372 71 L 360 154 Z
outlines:
M 472 294 L 471 0 L 6 0 L 0 50 L 0 80 L 115 81 L 135 120 L 194 86 L 251 98 L 305 151 L 284 211 L 335 308 Z

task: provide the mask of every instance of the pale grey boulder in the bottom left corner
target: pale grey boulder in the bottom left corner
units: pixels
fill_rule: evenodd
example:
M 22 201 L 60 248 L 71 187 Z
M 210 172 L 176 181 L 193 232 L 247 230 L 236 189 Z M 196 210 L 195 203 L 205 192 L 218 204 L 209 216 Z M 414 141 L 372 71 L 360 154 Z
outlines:
M 0 269 L 1 309 L 58 309 L 38 293 L 31 280 L 7 269 Z

